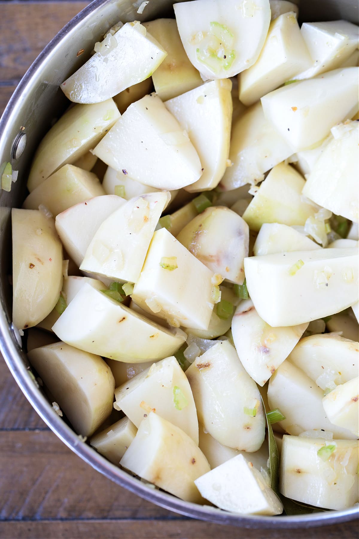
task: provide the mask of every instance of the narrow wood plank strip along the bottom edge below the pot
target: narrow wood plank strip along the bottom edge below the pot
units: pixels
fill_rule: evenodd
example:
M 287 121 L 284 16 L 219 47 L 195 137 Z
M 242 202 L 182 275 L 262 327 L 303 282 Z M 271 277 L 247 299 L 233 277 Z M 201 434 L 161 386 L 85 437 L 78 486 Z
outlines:
M 0 539 L 36 537 L 37 539 L 279 539 L 282 537 L 308 537 L 311 539 L 356 539 L 357 526 L 344 523 L 340 527 L 296 528 L 295 530 L 245 529 L 220 526 L 198 520 L 115 520 L 115 521 L 42 521 L 0 523 Z

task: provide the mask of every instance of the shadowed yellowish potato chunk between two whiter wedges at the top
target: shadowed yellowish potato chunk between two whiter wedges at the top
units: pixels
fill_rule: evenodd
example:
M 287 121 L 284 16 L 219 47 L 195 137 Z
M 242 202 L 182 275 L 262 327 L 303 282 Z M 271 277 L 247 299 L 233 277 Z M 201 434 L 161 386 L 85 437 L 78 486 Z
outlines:
M 199 72 L 187 58 L 174 19 L 156 19 L 143 24 L 167 52 L 164 61 L 152 73 L 154 89 L 166 101 L 202 84 Z

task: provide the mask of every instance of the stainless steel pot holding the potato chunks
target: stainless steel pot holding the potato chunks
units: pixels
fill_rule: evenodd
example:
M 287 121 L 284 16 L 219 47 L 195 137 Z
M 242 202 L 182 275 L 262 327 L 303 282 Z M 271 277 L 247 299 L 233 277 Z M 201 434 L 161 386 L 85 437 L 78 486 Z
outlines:
M 12 184 L 11 192 L 0 192 L 0 351 L 25 397 L 50 429 L 98 472 L 146 500 L 196 519 L 247 528 L 311 527 L 354 519 L 356 508 L 302 516 L 243 517 L 214 507 L 188 503 L 171 494 L 153 490 L 83 443 L 53 412 L 26 368 L 28 364 L 21 348 L 21 338 L 11 324 L 11 288 L 8 280 L 11 272 L 10 208 L 18 206 L 24 198 L 27 172 L 41 137 L 64 112 L 66 99 L 59 89 L 60 83 L 88 59 L 93 44 L 118 20 L 144 21 L 163 16 L 171 13 L 173 0 L 150 0 L 143 15 L 138 15 L 137 9 L 141 3 L 142 0 L 134 3 L 131 0 L 95 0 L 88 5 L 54 37 L 34 61 L 0 120 L 0 175 L 6 162 L 11 163 L 13 170 L 19 171 L 18 181 Z M 302 0 L 300 18 L 343 18 L 357 23 L 358 5 L 356 0 Z M 85 53 L 76 57 L 81 49 L 85 49 Z

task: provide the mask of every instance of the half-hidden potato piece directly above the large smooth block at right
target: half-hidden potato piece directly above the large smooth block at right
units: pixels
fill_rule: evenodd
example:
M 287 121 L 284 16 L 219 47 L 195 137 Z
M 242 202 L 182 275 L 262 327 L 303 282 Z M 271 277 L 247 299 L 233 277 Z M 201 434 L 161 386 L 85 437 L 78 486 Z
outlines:
M 291 226 L 279 223 L 264 223 L 254 244 L 255 257 L 264 254 L 287 253 L 290 251 L 314 251 L 320 245 Z

